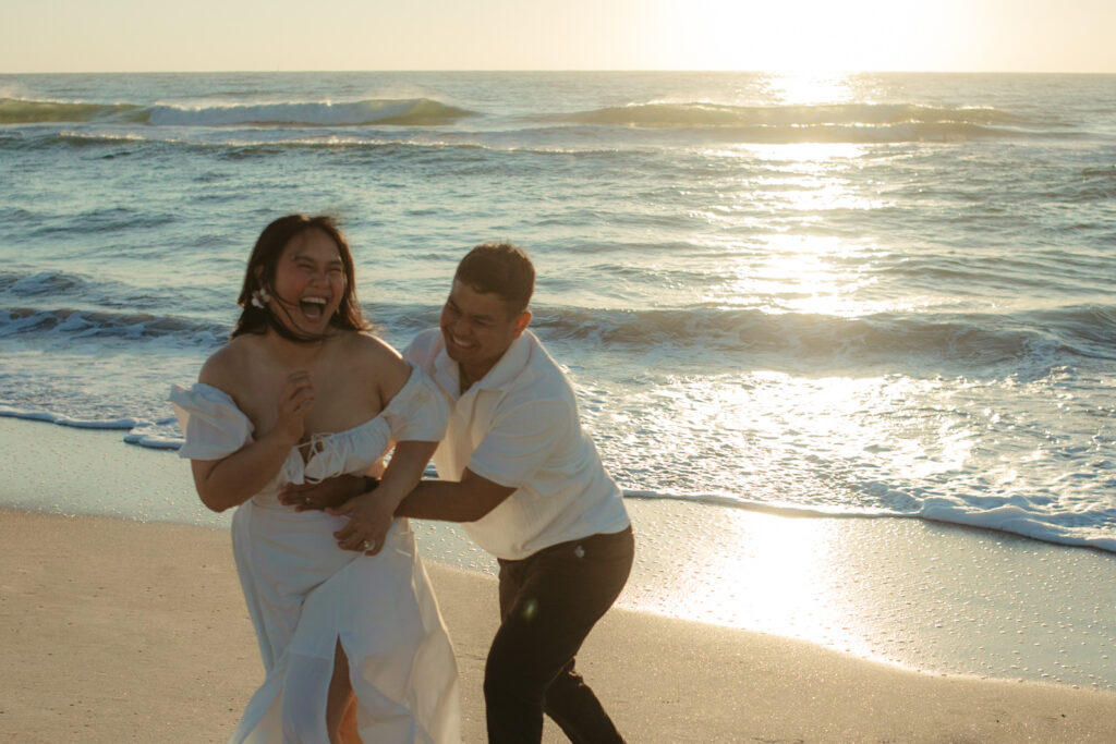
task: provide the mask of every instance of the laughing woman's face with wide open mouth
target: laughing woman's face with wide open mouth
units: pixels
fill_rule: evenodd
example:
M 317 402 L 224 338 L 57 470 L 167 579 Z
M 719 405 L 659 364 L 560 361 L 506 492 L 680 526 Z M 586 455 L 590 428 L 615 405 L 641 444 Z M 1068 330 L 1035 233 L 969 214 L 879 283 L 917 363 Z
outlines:
M 291 238 L 279 257 L 271 312 L 297 334 L 320 336 L 341 303 L 346 283 L 333 238 L 307 230 Z

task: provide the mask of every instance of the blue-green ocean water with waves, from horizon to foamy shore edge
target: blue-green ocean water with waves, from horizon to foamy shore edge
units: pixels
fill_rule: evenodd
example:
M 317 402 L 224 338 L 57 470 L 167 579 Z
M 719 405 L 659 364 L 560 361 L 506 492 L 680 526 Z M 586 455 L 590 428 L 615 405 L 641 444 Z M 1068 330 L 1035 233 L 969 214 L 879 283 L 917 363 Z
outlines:
M 176 446 L 328 212 L 400 347 L 525 245 L 633 499 L 1116 551 L 1116 76 L 0 76 L 0 415 Z

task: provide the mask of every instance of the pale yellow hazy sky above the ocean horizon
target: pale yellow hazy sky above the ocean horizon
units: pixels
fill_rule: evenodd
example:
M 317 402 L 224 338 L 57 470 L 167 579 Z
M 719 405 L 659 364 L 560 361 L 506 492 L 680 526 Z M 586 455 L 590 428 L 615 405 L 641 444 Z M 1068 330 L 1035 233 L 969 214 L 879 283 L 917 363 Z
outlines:
M 1116 73 L 1114 0 L 3 0 L 0 73 Z

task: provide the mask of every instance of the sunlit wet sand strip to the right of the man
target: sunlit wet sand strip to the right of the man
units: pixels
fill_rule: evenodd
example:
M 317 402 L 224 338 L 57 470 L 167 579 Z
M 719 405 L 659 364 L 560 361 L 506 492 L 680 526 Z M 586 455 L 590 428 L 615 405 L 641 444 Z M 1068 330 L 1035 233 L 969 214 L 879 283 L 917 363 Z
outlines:
M 639 530 L 625 607 L 927 671 L 1116 684 L 1103 551 L 921 520 L 628 508 Z

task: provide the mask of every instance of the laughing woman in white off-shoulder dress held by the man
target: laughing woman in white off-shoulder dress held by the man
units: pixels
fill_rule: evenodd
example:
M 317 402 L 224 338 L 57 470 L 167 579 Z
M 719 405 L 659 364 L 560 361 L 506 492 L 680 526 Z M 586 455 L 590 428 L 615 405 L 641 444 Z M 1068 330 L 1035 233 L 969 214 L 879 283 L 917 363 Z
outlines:
M 269 224 L 239 303 L 229 344 L 171 393 L 202 502 L 239 508 L 233 552 L 267 671 L 230 741 L 356 741 L 340 733 L 354 717 L 366 744 L 456 741 L 453 648 L 414 535 L 392 518 L 444 433 L 445 403 L 360 332 L 353 259 L 328 218 Z M 392 442 L 347 520 L 278 502 L 288 483 L 378 474 Z

